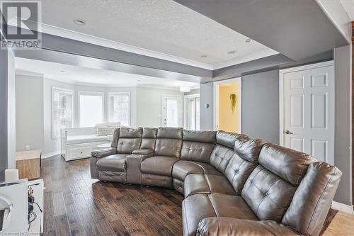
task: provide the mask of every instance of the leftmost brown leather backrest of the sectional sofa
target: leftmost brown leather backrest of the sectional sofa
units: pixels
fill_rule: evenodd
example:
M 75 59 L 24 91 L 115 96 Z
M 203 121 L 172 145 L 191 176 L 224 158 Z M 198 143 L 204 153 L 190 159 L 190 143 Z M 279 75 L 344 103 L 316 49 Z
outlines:
M 132 151 L 140 148 L 141 142 L 142 128 L 120 128 L 117 153 L 131 154 Z

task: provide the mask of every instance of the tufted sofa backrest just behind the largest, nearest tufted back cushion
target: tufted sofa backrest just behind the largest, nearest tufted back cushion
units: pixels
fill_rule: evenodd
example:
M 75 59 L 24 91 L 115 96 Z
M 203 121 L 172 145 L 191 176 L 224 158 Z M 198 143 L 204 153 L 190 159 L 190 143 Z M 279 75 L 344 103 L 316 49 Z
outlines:
M 258 166 L 258 157 L 264 145 L 262 140 L 241 138 L 235 142 L 235 154 L 229 161 L 225 176 L 234 187 L 237 194 L 241 194 L 246 180 Z

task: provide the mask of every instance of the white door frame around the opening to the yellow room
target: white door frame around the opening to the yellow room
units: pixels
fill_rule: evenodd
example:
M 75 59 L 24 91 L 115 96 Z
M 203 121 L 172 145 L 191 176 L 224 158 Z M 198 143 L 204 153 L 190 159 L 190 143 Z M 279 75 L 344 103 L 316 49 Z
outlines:
M 213 83 L 213 98 L 212 98 L 212 127 L 213 130 L 217 130 L 217 108 L 216 105 L 219 101 L 219 91 L 217 91 L 217 85 L 229 84 L 230 82 L 239 82 L 239 133 L 242 133 L 242 77 L 235 77 L 232 79 L 224 79 Z

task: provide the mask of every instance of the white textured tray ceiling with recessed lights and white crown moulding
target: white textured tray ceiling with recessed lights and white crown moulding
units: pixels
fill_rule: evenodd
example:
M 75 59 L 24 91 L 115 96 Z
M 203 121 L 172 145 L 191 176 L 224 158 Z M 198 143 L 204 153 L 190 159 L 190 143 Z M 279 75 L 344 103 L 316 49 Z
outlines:
M 46 33 L 207 69 L 278 53 L 172 0 L 46 0 L 42 23 Z

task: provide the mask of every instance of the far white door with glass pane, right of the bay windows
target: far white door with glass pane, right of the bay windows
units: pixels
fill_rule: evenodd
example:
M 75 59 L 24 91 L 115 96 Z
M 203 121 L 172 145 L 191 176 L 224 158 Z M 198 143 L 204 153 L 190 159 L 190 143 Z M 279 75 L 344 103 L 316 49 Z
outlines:
M 162 125 L 181 127 L 181 96 L 162 96 Z

